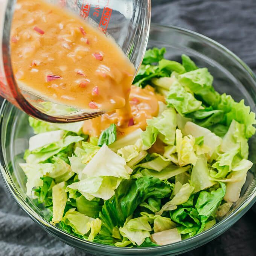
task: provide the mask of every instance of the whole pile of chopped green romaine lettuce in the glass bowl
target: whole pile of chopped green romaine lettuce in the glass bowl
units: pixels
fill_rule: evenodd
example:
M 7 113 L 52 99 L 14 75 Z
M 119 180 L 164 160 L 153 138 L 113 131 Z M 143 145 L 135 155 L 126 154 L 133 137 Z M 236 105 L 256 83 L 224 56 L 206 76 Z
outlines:
M 244 100 L 216 92 L 206 68 L 164 53 L 148 50 L 134 79 L 166 97 L 145 131 L 117 140 L 112 124 L 89 138 L 83 122 L 29 117 L 36 135 L 20 164 L 27 195 L 60 229 L 117 247 L 166 245 L 209 229 L 239 199 L 253 165 L 255 114 Z M 148 151 L 156 140 L 162 154 Z

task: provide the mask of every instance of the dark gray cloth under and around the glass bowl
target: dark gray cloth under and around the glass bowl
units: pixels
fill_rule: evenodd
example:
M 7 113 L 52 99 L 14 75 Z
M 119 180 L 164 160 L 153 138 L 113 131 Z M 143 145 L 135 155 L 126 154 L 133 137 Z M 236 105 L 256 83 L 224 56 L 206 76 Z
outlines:
M 223 44 L 256 72 L 255 0 L 152 0 L 152 21 L 192 29 Z M 183 256 L 253 256 L 252 210 L 214 241 Z M 89 256 L 53 238 L 15 203 L 0 178 L 0 255 Z

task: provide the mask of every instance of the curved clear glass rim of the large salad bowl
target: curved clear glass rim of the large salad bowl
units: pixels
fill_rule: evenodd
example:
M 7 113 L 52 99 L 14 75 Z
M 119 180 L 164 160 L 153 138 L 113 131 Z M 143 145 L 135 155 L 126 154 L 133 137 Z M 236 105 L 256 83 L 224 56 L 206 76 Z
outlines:
M 192 30 L 184 29 L 184 28 L 177 27 L 177 26 L 169 26 L 169 25 L 162 25 L 162 24 L 160 25 L 160 24 L 156 24 L 156 23 L 151 23 L 150 29 L 159 28 L 159 27 L 176 30 L 176 31 L 183 32 L 183 33 L 185 32 L 187 34 L 192 34 L 195 37 L 201 38 L 201 39 L 208 41 L 209 43 L 215 45 L 216 47 L 221 48 L 222 50 L 224 50 L 226 53 L 228 53 L 231 57 L 233 57 L 237 62 L 239 62 L 244 67 L 245 72 L 246 71 L 248 72 L 248 74 L 251 76 L 251 78 L 253 78 L 255 85 L 256 85 L 256 76 L 254 75 L 253 71 L 238 56 L 236 56 L 233 52 L 231 52 L 230 50 L 228 50 L 226 47 L 222 46 L 221 44 L 217 43 L 216 41 L 214 41 L 204 35 L 201 35 L 197 32 L 194 32 Z M 2 131 L 2 128 L 3 128 L 3 116 L 4 116 L 4 114 L 6 114 L 5 110 L 6 110 L 6 106 L 8 106 L 8 104 L 11 105 L 8 101 L 4 100 L 3 104 L 1 106 L 1 109 L 0 109 L 0 131 Z M 15 107 L 13 106 L 13 108 L 15 108 Z M 12 197 L 14 198 L 14 200 L 21 207 L 21 209 L 23 209 L 23 211 L 31 219 L 33 219 L 33 221 L 35 221 L 37 224 L 39 224 L 40 227 L 42 227 L 44 230 L 49 232 L 51 235 L 59 238 L 61 241 L 65 242 L 73 247 L 80 248 L 80 249 L 84 248 L 85 250 L 88 250 L 91 252 L 93 252 L 93 250 L 97 246 L 97 251 L 99 253 L 105 252 L 105 253 L 111 253 L 112 255 L 118 254 L 118 253 L 123 253 L 125 255 L 128 255 L 126 253 L 131 253 L 131 254 L 137 253 L 139 255 L 139 254 L 147 253 L 147 252 L 149 252 L 149 250 L 150 250 L 150 253 L 155 252 L 157 254 L 166 253 L 167 251 L 169 251 L 169 253 L 172 253 L 172 255 L 184 253 L 186 251 L 192 250 L 193 248 L 199 247 L 199 246 L 205 244 L 206 242 L 209 242 L 209 241 L 215 239 L 217 236 L 221 235 L 223 232 L 225 232 L 227 229 L 229 229 L 229 227 L 232 226 L 236 221 L 238 221 L 238 219 L 240 219 L 250 209 L 250 207 L 253 206 L 253 204 L 256 201 L 256 187 L 254 187 L 253 190 L 251 191 L 251 193 L 245 199 L 245 201 L 241 204 L 241 206 L 239 206 L 238 209 L 235 209 L 232 213 L 230 213 L 229 216 L 227 216 L 220 222 L 216 223 L 210 229 L 208 229 L 198 235 L 195 235 L 191 238 L 187 238 L 187 239 L 184 239 L 179 242 L 175 242 L 175 243 L 168 244 L 168 245 L 162 245 L 159 247 L 143 247 L 143 248 L 113 247 L 111 245 L 104 245 L 104 244 L 99 244 L 96 242 L 90 242 L 90 241 L 78 238 L 76 236 L 73 236 L 73 235 L 59 229 L 58 227 L 54 226 L 50 222 L 46 221 L 37 212 L 35 212 L 35 210 L 33 210 L 29 206 L 27 201 L 24 200 L 24 198 L 20 195 L 18 190 L 15 188 L 15 184 L 13 183 L 12 179 L 8 175 L 8 170 L 6 169 L 6 165 L 3 164 L 3 163 L 5 163 L 5 159 L 3 156 L 3 149 L 5 150 L 4 145 L 3 145 L 3 140 L 1 140 L 0 172 L 2 174 L 2 177 L 6 184 L 6 187 L 8 188 L 8 190 L 9 190 L 10 194 L 12 195 Z M 67 241 L 67 239 L 69 239 L 69 240 Z M 75 244 L 75 245 L 70 244 L 70 242 L 72 242 L 72 241 L 74 241 L 74 242 L 76 241 L 77 244 L 80 243 L 79 246 L 77 244 Z

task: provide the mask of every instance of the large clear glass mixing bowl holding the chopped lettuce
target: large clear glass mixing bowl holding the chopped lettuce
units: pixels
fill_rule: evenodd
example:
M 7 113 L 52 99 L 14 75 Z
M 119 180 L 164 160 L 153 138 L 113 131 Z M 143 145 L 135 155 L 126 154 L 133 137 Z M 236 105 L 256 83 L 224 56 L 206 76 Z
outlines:
M 177 27 L 164 27 L 152 24 L 148 48 L 166 47 L 165 57 L 180 61 L 181 54 L 189 55 L 200 67 L 207 67 L 214 77 L 213 85 L 219 93 L 228 93 L 236 101 L 245 100 L 245 104 L 256 112 L 256 77 L 253 72 L 232 52 L 207 37 Z M 0 110 L 1 152 L 0 168 L 3 179 L 20 207 L 43 229 L 58 237 L 61 241 L 96 255 L 177 255 L 196 248 L 216 238 L 239 218 L 255 202 L 256 165 L 248 172 L 241 198 L 230 212 L 212 228 L 192 238 L 170 245 L 150 248 L 118 248 L 88 242 L 59 230 L 49 222 L 47 211 L 35 206 L 26 197 L 25 175 L 19 163 L 24 162 L 23 154 L 28 148 L 32 128 L 28 116 L 5 101 Z M 256 136 L 249 141 L 249 159 L 256 163 Z

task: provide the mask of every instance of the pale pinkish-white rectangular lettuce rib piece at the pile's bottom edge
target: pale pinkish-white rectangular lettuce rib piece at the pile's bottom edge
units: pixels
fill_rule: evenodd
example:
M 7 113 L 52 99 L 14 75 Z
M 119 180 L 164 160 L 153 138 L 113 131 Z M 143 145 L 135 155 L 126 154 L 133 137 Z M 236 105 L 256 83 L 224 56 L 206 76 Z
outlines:
M 181 241 L 181 236 L 177 228 L 174 228 L 154 233 L 151 235 L 151 239 L 156 244 L 166 245 Z

